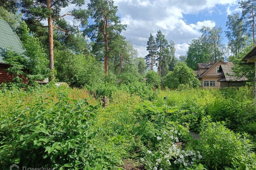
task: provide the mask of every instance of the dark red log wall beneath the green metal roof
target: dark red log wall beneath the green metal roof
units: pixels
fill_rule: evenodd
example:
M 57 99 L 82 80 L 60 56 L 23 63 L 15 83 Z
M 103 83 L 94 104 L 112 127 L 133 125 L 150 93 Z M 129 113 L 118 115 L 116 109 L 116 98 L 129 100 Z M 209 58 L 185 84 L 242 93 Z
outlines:
M 13 78 L 15 77 L 14 74 L 7 73 L 7 68 L 8 65 L 0 64 L 0 84 L 12 82 Z M 19 75 L 19 77 L 23 79 L 23 83 L 27 84 L 27 79 L 23 75 Z

